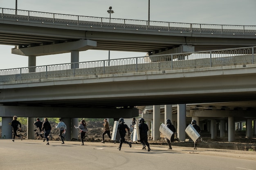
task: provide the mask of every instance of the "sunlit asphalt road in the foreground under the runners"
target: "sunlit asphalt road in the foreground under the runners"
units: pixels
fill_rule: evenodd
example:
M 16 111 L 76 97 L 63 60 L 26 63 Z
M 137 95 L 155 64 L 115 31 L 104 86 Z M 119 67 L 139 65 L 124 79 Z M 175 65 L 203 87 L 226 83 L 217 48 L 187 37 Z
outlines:
M 0 170 L 256 170 L 256 152 L 140 144 L 0 139 Z

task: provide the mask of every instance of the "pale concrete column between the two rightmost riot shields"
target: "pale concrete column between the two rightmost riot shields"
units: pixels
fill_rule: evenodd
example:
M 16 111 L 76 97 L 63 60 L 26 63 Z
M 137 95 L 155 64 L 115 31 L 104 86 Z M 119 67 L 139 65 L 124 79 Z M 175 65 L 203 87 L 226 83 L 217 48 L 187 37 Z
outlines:
M 177 105 L 177 134 L 181 141 L 185 141 L 186 134 L 186 104 Z

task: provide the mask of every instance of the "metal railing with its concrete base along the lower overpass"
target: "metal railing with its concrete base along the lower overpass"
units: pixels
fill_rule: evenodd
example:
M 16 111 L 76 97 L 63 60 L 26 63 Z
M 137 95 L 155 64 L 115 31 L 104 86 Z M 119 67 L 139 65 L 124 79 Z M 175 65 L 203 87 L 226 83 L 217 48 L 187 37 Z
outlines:
M 256 46 L 0 70 L 0 82 L 254 64 Z

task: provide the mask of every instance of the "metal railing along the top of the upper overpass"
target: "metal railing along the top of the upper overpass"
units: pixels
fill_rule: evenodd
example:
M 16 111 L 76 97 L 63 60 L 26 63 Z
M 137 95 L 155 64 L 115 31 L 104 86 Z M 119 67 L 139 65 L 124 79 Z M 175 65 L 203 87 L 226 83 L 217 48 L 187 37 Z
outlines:
M 218 33 L 256 33 L 256 26 L 249 25 L 219 25 L 219 24 L 192 24 L 177 22 L 160 22 L 146 20 L 129 20 L 117 18 L 100 18 L 81 15 L 67 15 L 59 13 L 47 13 L 37 11 L 15 10 L 0 8 L 2 18 L 17 18 L 29 21 L 61 22 L 74 25 L 96 25 L 115 26 L 124 28 L 144 28 L 166 31 L 188 31 L 188 32 L 218 32 Z

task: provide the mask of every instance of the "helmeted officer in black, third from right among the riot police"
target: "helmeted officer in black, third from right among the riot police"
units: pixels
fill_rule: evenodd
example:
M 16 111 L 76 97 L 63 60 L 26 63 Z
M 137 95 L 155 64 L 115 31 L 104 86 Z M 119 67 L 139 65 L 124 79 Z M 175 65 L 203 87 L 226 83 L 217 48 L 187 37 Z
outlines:
M 139 136 L 140 136 L 140 143 L 143 146 L 142 149 L 146 149 L 146 146 L 148 146 L 148 152 L 149 152 L 150 147 L 148 144 L 148 125 L 145 124 L 144 118 L 139 119 Z

